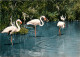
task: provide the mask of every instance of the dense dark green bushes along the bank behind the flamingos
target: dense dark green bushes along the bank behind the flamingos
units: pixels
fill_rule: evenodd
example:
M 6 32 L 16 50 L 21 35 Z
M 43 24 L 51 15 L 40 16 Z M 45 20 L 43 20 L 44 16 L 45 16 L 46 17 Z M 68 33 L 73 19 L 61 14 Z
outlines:
M 62 14 L 67 21 L 80 20 L 80 0 L 6 0 L 0 1 L 0 5 L 0 30 L 10 24 L 11 16 L 13 21 L 18 18 L 23 21 L 22 12 L 29 15 L 26 21 L 41 15 L 57 21 Z

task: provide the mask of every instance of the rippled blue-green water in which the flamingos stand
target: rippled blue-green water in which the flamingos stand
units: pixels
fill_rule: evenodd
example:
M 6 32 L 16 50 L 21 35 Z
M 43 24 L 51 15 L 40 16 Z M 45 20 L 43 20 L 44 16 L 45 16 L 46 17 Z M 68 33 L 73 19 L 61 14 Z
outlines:
M 26 35 L 13 35 L 13 46 L 10 35 L 0 34 L 0 57 L 80 57 L 80 22 L 66 22 L 61 36 L 56 25 L 37 26 L 36 38 L 33 28 Z

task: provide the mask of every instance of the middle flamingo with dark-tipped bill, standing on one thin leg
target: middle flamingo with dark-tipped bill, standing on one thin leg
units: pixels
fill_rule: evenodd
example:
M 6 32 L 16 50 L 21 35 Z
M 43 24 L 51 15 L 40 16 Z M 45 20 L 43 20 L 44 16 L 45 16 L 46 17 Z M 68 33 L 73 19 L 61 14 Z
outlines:
M 34 25 L 35 26 L 35 37 L 36 37 L 36 26 L 37 25 L 39 25 L 39 26 L 43 26 L 44 25 L 44 22 L 42 21 L 42 19 L 44 21 L 48 21 L 48 19 L 45 16 L 41 16 L 40 17 L 40 20 L 39 19 L 33 19 L 33 20 L 27 22 L 27 25 L 30 25 L 31 24 L 31 25 Z

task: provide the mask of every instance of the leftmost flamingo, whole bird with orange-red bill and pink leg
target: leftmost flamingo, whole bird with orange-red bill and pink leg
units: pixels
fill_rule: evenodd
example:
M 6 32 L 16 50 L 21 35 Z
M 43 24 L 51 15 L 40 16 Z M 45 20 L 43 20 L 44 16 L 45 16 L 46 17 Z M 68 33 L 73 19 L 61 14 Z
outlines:
M 14 32 L 19 32 L 20 31 L 20 26 L 18 25 L 18 23 L 17 22 L 20 22 L 20 24 L 22 24 L 22 21 L 20 20 L 20 19 L 17 19 L 16 20 L 16 25 L 17 25 L 17 27 L 16 26 L 8 26 L 7 28 L 5 28 L 1 33 L 8 33 L 8 34 L 10 34 L 11 35 L 11 43 L 12 43 L 12 34 L 14 33 Z M 13 45 L 13 43 L 12 43 L 12 45 Z

